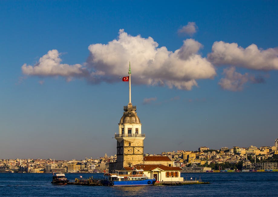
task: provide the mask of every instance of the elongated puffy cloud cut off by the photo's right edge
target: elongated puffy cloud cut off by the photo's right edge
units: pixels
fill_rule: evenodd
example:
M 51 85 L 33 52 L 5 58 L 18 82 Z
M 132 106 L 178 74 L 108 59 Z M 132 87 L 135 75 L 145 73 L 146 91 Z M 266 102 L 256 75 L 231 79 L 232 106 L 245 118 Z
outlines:
M 214 42 L 208 59 L 219 65 L 234 65 L 255 70 L 277 70 L 278 48 L 258 49 L 252 44 L 242 48 L 237 43 Z

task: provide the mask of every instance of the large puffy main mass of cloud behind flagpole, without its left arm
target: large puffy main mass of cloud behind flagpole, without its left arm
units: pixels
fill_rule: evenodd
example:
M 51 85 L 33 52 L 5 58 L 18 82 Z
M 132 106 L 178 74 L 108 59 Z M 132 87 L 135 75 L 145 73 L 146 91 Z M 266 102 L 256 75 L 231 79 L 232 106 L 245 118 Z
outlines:
M 87 66 L 93 70 L 90 80 L 118 82 L 119 76 L 127 75 L 130 61 L 133 83 L 190 90 L 198 85 L 197 79 L 216 75 L 214 66 L 198 54 L 201 47 L 194 39 L 187 39 L 181 48 L 172 52 L 164 46 L 158 48 L 151 37 L 131 36 L 121 29 L 118 39 L 88 47 Z

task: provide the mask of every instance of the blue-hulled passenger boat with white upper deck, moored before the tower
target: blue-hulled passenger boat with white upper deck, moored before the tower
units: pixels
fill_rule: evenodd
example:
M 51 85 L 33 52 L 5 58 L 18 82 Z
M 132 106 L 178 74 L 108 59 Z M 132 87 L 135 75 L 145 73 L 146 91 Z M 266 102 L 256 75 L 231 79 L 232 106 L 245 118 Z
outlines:
M 103 185 L 109 186 L 138 186 L 153 185 L 155 179 L 148 178 L 142 169 L 114 170 L 113 173 L 104 173 Z

